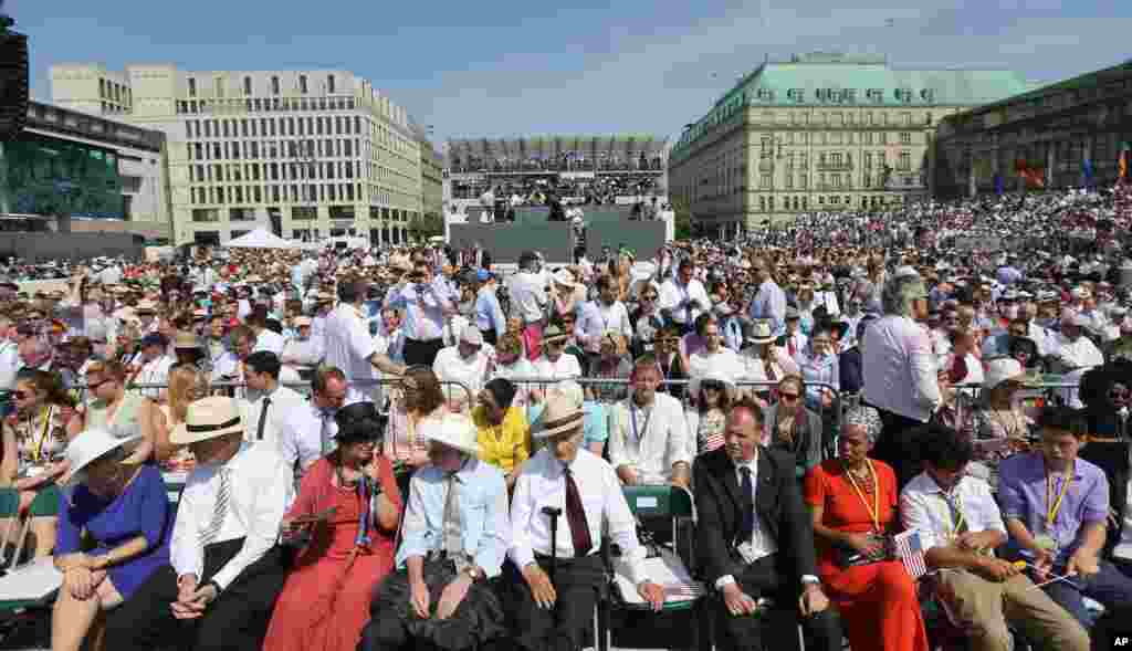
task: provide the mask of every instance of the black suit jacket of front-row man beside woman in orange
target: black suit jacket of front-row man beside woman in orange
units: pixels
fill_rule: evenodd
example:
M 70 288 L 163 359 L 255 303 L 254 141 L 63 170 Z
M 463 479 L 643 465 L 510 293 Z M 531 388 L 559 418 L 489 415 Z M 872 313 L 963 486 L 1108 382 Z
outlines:
M 804 574 L 817 575 L 814 526 L 803 505 L 795 478 L 794 456 L 758 448 L 755 513 L 760 526 L 778 543 L 778 569 L 795 583 Z M 727 574 L 738 577 L 743 560 L 735 554 L 735 540 L 743 520 L 743 503 L 735 465 L 720 447 L 696 457 L 695 478 L 696 560 L 709 586 Z M 784 583 L 789 584 L 790 581 Z M 801 589 L 797 584 L 797 590 Z

